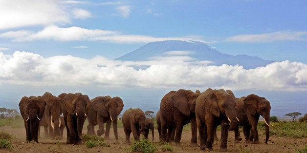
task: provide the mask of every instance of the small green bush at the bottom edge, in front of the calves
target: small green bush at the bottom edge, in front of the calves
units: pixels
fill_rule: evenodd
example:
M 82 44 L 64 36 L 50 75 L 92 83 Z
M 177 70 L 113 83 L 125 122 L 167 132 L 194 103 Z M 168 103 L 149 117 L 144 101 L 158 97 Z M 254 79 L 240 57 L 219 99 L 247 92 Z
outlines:
M 130 146 L 131 152 L 138 153 L 154 153 L 158 149 L 154 146 L 152 142 L 148 142 L 147 139 L 133 141 L 133 144 Z

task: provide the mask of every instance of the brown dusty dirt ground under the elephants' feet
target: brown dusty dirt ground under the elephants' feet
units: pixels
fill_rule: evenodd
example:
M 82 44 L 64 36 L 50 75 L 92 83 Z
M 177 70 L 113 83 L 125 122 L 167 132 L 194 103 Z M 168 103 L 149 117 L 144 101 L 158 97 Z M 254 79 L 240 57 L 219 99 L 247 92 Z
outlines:
M 98 126 L 95 127 L 95 131 L 97 131 Z M 127 153 L 129 152 L 126 148 L 129 148 L 129 144 L 125 144 L 125 134 L 122 128 L 118 129 L 118 140 L 115 140 L 114 134 L 110 134 L 110 140 L 105 140 L 110 147 L 93 147 L 87 148 L 85 144 L 80 145 L 66 145 L 66 129 L 64 130 L 64 139 L 62 140 L 49 140 L 44 138 L 39 138 L 38 143 L 26 143 L 25 142 L 25 130 L 24 128 L 12 128 L 11 126 L 1 126 L 0 131 L 7 132 L 13 136 L 12 150 L 0 150 L 0 152 L 15 152 L 15 153 L 25 153 L 25 152 L 53 152 L 53 153 L 69 153 L 69 152 L 112 152 L 112 153 Z M 83 130 L 86 133 L 86 130 Z M 44 135 L 44 128 L 41 128 L 41 135 Z M 154 144 L 158 145 L 159 136 L 157 131 L 154 132 Z M 278 136 L 270 136 L 268 144 L 264 144 L 265 135 L 262 134 L 263 131 L 259 132 L 261 135 L 260 137 L 260 144 L 248 144 L 244 141 L 235 144 L 234 143 L 234 133 L 230 132 L 228 135 L 228 152 L 229 153 L 294 153 L 295 149 L 302 149 L 307 144 L 307 138 L 289 138 L 289 137 L 278 137 Z M 219 135 L 218 131 L 218 137 Z M 150 141 L 152 140 L 152 136 L 149 136 Z M 175 153 L 200 153 L 204 152 L 200 150 L 199 147 L 191 147 L 190 146 L 191 140 L 191 132 L 190 131 L 183 131 L 182 138 L 181 138 L 181 145 L 180 146 L 173 146 Z M 132 135 L 131 135 L 131 142 L 132 142 Z M 199 142 L 198 142 L 199 143 Z M 219 141 L 215 141 L 213 144 L 213 151 L 212 153 L 219 152 Z M 158 146 L 161 148 L 161 146 Z M 208 152 L 208 150 L 205 150 Z

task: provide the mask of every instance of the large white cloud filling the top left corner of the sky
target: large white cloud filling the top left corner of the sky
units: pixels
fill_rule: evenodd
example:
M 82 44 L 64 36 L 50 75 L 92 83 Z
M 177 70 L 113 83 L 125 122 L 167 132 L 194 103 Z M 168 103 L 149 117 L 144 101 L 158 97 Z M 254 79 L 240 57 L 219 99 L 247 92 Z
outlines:
M 0 0 L 0 22 L 1 30 L 70 23 L 70 19 L 57 0 Z

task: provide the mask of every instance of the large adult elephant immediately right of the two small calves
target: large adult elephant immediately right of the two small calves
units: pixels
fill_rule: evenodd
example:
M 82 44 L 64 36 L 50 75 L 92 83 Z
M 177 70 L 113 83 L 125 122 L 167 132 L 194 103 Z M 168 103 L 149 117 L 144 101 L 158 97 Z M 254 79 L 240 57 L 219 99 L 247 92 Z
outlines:
M 197 124 L 195 102 L 200 93 L 179 89 L 163 96 L 160 103 L 160 122 L 162 142 L 171 142 L 175 130 L 175 143 L 180 144 L 182 128 L 191 122 L 191 144 L 197 146 Z

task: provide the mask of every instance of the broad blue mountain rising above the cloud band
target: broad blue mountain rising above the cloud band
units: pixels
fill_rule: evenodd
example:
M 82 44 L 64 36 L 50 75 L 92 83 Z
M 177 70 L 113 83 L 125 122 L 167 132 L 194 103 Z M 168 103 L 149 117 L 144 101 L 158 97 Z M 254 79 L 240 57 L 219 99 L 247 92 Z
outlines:
M 192 40 L 150 42 L 116 59 L 123 61 L 146 61 L 154 59 L 155 57 L 172 57 L 179 55 L 192 57 L 195 61 L 209 60 L 214 62 L 212 65 L 239 64 L 244 66 L 245 69 L 253 69 L 274 62 L 272 60 L 264 60 L 260 57 L 223 54 L 203 42 Z

